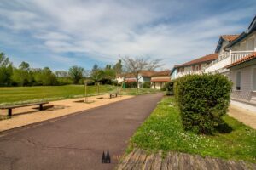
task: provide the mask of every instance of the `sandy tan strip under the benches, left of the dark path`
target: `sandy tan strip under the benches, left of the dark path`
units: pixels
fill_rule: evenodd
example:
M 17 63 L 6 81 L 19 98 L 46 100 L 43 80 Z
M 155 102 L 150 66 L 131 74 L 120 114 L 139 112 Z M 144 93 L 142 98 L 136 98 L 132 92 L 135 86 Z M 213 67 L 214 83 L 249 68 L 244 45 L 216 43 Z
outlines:
M 0 131 L 9 130 L 15 127 L 21 127 L 35 122 L 42 122 L 52 118 L 67 116 L 78 111 L 85 111 L 102 105 L 108 105 L 123 99 L 129 99 L 133 96 L 122 95 L 117 98 L 109 99 L 109 95 L 97 95 L 88 97 L 88 101 L 94 101 L 90 104 L 84 102 L 84 98 L 79 99 L 61 99 L 51 101 L 48 105 L 44 105 L 44 111 L 38 111 L 38 105 L 29 107 L 20 107 L 13 110 L 11 119 L 0 122 Z M 7 110 L 0 110 L 0 115 L 7 115 Z

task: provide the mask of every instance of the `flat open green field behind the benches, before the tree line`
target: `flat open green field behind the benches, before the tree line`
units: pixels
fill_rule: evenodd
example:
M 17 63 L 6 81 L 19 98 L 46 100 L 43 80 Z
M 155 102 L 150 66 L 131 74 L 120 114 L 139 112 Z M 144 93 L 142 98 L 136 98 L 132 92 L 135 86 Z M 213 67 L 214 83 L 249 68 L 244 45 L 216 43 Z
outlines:
M 114 89 L 115 87 L 109 85 L 100 86 L 100 93 L 107 93 Z M 88 86 L 87 92 L 89 95 L 96 95 L 96 86 Z M 84 96 L 83 85 L 0 88 L 0 105 L 29 103 L 38 100 L 68 99 L 82 96 Z

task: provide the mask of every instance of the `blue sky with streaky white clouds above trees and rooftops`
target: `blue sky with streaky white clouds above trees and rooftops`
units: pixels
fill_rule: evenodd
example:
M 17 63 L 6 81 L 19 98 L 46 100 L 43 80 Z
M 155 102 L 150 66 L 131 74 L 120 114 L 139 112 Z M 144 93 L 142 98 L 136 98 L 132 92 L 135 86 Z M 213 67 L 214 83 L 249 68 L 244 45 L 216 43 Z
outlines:
M 1 0 L 0 51 L 14 65 L 67 70 L 114 64 L 120 57 L 163 59 L 163 69 L 245 31 L 256 1 Z

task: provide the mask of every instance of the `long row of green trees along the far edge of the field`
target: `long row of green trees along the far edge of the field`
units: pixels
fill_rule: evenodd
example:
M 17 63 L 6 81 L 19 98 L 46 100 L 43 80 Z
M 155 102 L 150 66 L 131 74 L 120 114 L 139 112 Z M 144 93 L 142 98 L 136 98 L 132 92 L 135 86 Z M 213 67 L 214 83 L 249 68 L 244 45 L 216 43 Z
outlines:
M 83 84 L 84 79 L 90 84 L 115 84 L 117 74 L 123 70 L 121 60 L 115 65 L 100 68 L 94 65 L 91 70 L 74 65 L 68 71 L 51 71 L 49 67 L 31 68 L 27 62 L 15 67 L 4 53 L 0 53 L 0 86 L 55 86 Z

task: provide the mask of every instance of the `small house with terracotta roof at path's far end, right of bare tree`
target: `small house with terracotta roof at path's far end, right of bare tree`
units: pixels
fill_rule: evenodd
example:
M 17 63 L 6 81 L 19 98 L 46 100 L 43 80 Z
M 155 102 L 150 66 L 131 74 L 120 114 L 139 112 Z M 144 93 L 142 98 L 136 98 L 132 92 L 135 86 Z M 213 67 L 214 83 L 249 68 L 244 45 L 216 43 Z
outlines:
M 154 75 L 151 77 L 151 88 L 163 88 L 166 82 L 171 81 L 170 74 L 170 70 L 155 72 Z

